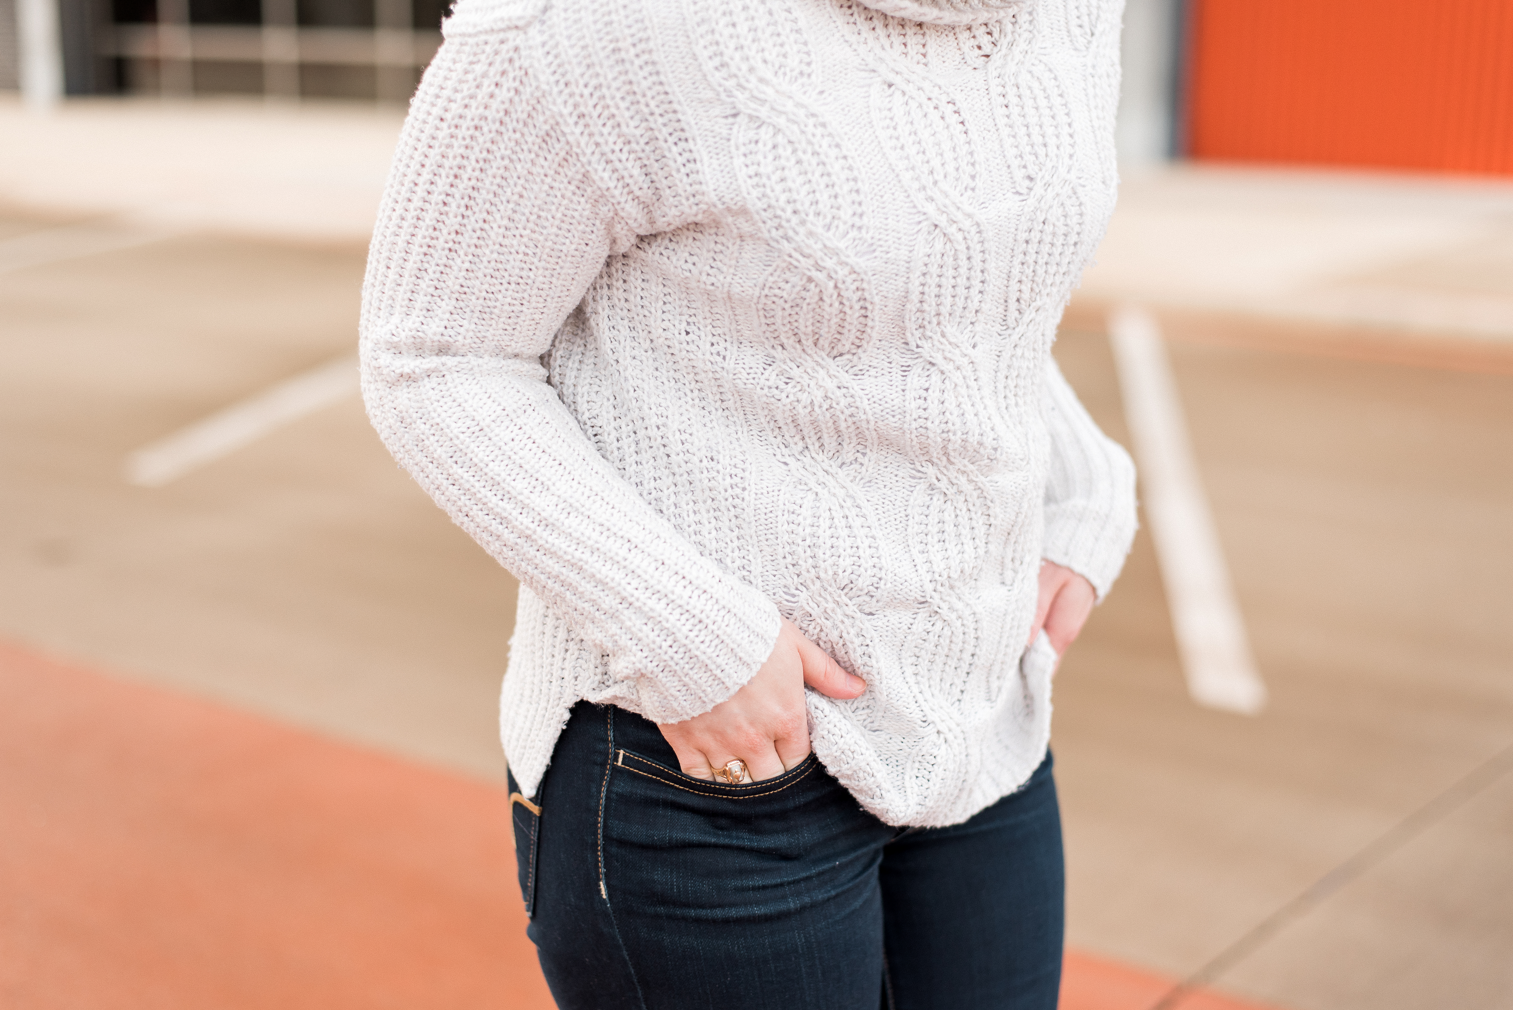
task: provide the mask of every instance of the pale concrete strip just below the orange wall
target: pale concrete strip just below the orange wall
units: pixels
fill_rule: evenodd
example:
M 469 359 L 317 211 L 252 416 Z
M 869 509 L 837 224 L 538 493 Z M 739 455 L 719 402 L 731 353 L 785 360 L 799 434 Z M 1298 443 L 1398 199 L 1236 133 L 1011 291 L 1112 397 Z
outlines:
M 1082 301 L 1513 343 L 1513 181 L 1186 165 L 1136 172 Z

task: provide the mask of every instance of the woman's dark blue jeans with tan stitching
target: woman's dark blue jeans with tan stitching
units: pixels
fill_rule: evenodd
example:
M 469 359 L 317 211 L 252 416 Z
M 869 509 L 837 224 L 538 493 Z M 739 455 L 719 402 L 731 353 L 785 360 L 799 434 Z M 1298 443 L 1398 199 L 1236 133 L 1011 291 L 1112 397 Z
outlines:
M 899 829 L 812 754 L 744 786 L 691 779 L 654 723 L 581 702 L 536 803 L 511 809 L 561 1010 L 1056 1007 L 1049 756 L 965 824 Z

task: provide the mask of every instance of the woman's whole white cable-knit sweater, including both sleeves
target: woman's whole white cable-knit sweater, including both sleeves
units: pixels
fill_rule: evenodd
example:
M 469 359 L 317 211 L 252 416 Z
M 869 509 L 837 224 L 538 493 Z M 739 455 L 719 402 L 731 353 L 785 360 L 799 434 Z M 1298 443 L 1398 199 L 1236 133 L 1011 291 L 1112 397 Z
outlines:
M 890 824 L 1044 756 L 1042 556 L 1108 593 L 1133 467 L 1050 357 L 1114 204 L 1118 0 L 460 0 L 363 301 L 395 458 L 520 579 L 502 738 L 707 712 L 791 618 Z

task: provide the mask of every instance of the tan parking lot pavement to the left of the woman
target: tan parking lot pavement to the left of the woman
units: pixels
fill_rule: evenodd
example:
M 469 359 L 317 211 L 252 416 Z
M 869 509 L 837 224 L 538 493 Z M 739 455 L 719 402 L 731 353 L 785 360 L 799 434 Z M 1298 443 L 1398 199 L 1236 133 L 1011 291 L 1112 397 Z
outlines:
M 0 634 L 502 779 L 514 584 L 356 395 L 168 487 L 126 482 L 138 446 L 350 354 L 362 263 L 182 237 L 0 277 Z

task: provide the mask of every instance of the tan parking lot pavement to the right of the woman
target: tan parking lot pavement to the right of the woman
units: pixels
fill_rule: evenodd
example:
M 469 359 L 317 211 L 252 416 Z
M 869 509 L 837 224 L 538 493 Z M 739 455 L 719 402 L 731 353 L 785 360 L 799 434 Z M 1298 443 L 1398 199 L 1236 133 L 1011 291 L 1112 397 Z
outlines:
M 1185 977 L 1263 940 L 1218 983 L 1297 1010 L 1513 1005 L 1507 776 L 1251 936 L 1466 776 L 1507 770 L 1513 378 L 1171 354 L 1271 703 L 1186 699 L 1142 532 L 1058 674 L 1074 942 Z M 1058 357 L 1124 438 L 1103 336 L 1065 333 Z

